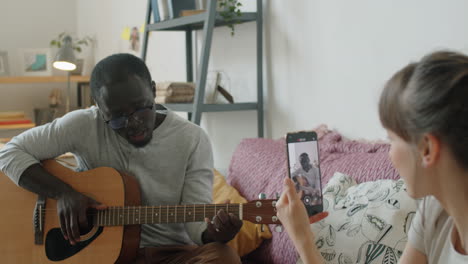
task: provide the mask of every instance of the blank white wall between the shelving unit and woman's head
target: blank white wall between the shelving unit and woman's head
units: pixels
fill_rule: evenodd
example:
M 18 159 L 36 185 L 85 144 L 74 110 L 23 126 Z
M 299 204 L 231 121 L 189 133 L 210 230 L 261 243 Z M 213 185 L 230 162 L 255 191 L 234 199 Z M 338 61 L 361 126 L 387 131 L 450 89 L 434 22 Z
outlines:
M 273 137 L 326 123 L 350 137 L 382 138 L 384 82 L 429 51 L 468 47 L 467 1 L 265 3 Z

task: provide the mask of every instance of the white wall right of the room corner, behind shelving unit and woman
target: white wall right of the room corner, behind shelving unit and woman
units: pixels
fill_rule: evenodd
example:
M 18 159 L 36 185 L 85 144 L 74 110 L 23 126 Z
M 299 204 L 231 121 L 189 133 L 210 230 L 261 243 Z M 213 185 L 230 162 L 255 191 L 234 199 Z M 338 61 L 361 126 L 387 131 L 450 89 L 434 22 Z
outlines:
M 252 0 L 242 1 L 255 10 Z M 468 51 L 464 0 L 268 0 L 265 11 L 266 133 L 326 123 L 343 134 L 383 138 L 377 101 L 385 81 L 411 60 L 437 48 Z M 120 32 L 141 25 L 146 1 L 80 0 L 79 34 L 97 39 L 96 59 L 125 51 Z M 148 64 L 156 81 L 184 80 L 183 33 L 152 33 Z M 199 38 L 198 38 L 199 43 Z M 210 70 L 229 74 L 237 101 L 255 91 L 255 24 L 216 29 Z M 227 168 L 242 138 L 256 137 L 256 113 L 208 113 L 215 163 Z

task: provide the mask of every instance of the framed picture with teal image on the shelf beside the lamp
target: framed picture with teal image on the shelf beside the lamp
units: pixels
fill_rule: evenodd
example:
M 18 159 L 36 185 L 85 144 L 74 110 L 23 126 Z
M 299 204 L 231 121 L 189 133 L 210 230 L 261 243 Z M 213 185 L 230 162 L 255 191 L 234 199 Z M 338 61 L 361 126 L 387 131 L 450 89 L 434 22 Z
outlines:
M 52 75 L 50 49 L 21 49 L 19 51 L 20 73 L 24 76 Z

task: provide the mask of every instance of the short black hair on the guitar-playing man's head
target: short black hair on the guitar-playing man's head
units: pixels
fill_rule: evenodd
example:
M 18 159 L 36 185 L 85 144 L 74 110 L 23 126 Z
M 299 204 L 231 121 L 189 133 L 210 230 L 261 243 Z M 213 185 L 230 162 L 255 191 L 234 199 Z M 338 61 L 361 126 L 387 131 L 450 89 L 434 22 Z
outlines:
M 151 74 L 143 60 L 127 53 L 110 55 L 96 64 L 91 73 L 91 96 L 96 100 L 101 96 L 102 86 L 124 82 L 133 75 L 148 83 L 151 89 Z

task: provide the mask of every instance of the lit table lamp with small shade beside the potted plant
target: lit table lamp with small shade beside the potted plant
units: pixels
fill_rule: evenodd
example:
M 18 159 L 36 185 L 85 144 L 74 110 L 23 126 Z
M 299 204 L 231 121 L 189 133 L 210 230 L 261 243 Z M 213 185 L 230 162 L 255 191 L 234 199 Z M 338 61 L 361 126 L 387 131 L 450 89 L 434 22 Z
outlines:
M 67 99 L 65 102 L 65 112 L 70 111 L 70 72 L 76 69 L 76 58 L 73 52 L 72 39 L 70 36 L 63 38 L 62 46 L 55 56 L 53 66 L 62 71 L 67 71 Z

